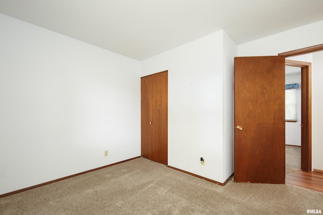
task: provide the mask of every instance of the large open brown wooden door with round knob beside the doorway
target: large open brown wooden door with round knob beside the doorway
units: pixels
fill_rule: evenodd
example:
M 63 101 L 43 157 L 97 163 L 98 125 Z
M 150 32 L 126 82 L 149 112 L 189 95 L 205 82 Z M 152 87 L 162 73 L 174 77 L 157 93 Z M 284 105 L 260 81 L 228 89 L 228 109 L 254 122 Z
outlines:
M 236 57 L 235 181 L 285 183 L 285 57 Z

